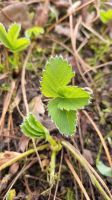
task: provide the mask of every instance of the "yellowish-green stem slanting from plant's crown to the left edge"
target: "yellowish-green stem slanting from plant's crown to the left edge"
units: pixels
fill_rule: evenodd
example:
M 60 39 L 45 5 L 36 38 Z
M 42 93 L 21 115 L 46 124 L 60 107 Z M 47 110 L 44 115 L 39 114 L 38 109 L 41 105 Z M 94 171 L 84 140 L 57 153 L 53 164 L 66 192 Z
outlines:
M 4 163 L 3 165 L 0 166 L 0 171 L 2 171 L 3 169 L 5 169 L 6 167 L 9 167 L 10 165 L 14 164 L 15 162 L 29 156 L 30 154 L 33 154 L 37 151 L 42 151 L 44 149 L 47 149 L 48 148 L 48 144 L 44 144 L 40 147 L 37 147 L 36 149 L 30 149 L 20 155 L 18 155 L 16 158 L 13 158 L 12 160 L 9 160 L 8 162 Z

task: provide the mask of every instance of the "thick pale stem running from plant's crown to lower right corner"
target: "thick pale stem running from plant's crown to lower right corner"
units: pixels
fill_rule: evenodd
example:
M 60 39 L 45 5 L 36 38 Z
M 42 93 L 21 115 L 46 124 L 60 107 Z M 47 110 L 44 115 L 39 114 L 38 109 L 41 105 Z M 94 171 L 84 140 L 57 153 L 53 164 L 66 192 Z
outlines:
M 67 148 L 72 155 L 80 162 L 80 164 L 85 168 L 85 170 L 87 171 L 88 175 L 90 176 L 90 179 L 93 183 L 94 186 L 97 187 L 97 189 L 99 190 L 99 192 L 102 194 L 102 196 L 104 197 L 105 200 L 111 200 L 111 194 L 109 193 L 110 197 L 107 195 L 107 193 L 104 191 L 103 187 L 100 185 L 99 181 L 96 179 L 95 175 L 93 174 L 93 172 L 91 171 L 87 160 L 80 154 L 80 152 L 78 152 L 77 149 L 75 149 L 75 147 L 73 145 L 71 145 L 69 142 L 66 141 L 62 141 L 61 142 L 62 145 Z

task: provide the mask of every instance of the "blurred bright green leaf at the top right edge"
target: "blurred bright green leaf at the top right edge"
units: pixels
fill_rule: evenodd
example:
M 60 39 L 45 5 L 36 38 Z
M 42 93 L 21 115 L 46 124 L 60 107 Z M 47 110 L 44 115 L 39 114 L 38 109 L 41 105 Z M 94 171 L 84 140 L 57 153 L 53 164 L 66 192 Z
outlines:
M 112 20 L 112 9 L 109 9 L 107 11 L 101 10 L 100 19 L 105 24 Z

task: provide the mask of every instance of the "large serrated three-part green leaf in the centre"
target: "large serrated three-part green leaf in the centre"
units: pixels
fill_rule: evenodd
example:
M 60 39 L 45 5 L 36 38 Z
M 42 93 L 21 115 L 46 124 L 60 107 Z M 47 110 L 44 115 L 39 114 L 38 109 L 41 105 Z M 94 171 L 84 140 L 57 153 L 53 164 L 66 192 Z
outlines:
M 68 86 L 74 73 L 62 57 L 51 57 L 43 71 L 41 91 L 53 98 L 48 103 L 48 113 L 59 131 L 73 135 L 77 125 L 77 111 L 90 101 L 90 92 L 77 86 Z

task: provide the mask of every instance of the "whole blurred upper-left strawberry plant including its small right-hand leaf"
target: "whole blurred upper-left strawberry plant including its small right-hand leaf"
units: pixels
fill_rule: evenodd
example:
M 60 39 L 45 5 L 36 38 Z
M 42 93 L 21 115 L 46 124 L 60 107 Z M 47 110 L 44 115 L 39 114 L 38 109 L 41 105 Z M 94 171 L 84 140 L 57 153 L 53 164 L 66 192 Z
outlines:
M 0 42 L 12 52 L 8 56 L 11 70 L 18 72 L 21 66 L 20 52 L 24 51 L 31 43 L 32 38 L 38 37 L 44 32 L 41 27 L 32 27 L 25 31 L 25 36 L 20 37 L 21 24 L 13 23 L 9 26 L 8 30 L 0 23 Z

